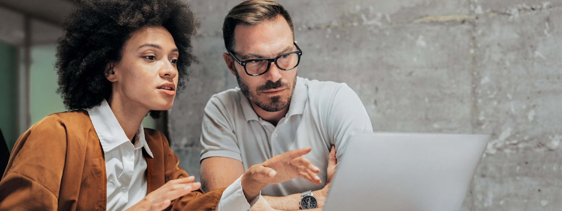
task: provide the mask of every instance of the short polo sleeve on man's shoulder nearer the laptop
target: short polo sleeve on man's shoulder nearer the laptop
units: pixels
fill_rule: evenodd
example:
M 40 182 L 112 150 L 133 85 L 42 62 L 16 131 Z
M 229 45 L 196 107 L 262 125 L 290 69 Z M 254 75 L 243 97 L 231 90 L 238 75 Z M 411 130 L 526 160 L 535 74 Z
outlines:
M 373 132 L 369 114 L 361 99 L 346 83 L 338 88 L 328 109 L 328 135 L 336 146 L 336 159 L 341 161 L 347 142 L 355 133 Z

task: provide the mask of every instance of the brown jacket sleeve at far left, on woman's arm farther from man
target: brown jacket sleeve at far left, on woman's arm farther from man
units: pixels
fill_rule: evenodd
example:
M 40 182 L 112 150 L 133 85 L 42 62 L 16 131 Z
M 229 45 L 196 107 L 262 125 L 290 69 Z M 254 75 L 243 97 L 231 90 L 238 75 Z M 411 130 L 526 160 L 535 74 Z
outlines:
M 66 129 L 49 116 L 17 140 L 0 181 L 0 210 L 57 210 Z

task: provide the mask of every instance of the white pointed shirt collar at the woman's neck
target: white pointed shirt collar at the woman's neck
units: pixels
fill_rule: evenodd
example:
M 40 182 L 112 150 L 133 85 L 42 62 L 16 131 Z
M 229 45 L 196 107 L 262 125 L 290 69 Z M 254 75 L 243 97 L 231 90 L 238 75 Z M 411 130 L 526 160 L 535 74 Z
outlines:
M 94 125 L 103 152 L 107 153 L 115 147 L 129 142 L 129 138 L 125 135 L 125 131 L 121 128 L 119 121 L 115 118 L 111 107 L 105 99 L 102 101 L 101 105 L 93 107 L 92 109 L 87 109 L 86 111 L 88 111 L 90 115 L 90 120 L 92 120 L 92 125 Z M 135 149 L 141 147 L 144 147 L 147 154 L 153 157 L 150 148 L 148 148 L 146 139 L 144 138 L 144 128 L 142 124 L 140 124 L 137 130 L 134 144 Z

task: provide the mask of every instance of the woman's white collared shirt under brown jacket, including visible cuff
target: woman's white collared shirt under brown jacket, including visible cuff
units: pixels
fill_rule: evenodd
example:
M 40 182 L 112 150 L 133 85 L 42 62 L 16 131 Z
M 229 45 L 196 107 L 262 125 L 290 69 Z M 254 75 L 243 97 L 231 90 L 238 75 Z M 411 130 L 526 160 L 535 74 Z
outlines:
M 147 194 L 146 158 L 152 152 L 144 138 L 142 124 L 135 135 L 134 144 L 129 141 L 106 100 L 87 109 L 99 142 L 102 145 L 107 175 L 107 210 L 124 210 L 138 203 Z M 242 177 L 242 176 L 241 176 Z M 241 177 L 223 192 L 217 211 L 250 210 L 259 195 L 248 203 L 242 191 Z

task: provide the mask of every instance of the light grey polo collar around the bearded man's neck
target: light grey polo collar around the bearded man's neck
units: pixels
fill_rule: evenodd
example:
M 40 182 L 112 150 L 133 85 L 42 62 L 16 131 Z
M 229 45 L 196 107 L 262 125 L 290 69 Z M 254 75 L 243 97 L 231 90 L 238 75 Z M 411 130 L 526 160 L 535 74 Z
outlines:
M 287 111 L 287 118 L 292 115 L 302 114 L 305 110 L 306 101 L 309 97 L 306 90 L 304 78 L 297 77 L 297 84 L 294 85 L 293 96 L 291 97 L 291 104 L 289 105 L 289 111 Z M 257 116 L 256 111 L 253 110 L 250 100 L 238 89 L 238 95 L 240 96 L 240 104 L 242 106 L 242 111 L 244 112 L 244 118 L 246 121 L 257 120 L 259 121 L 259 116 Z

